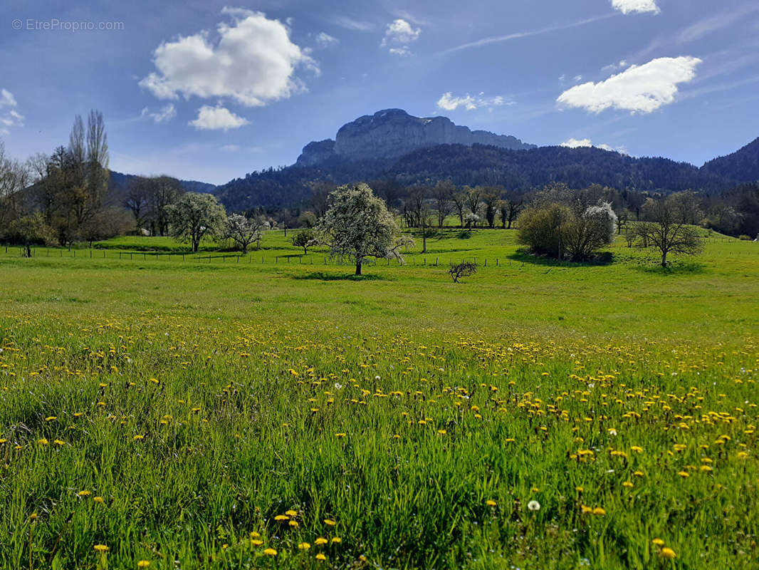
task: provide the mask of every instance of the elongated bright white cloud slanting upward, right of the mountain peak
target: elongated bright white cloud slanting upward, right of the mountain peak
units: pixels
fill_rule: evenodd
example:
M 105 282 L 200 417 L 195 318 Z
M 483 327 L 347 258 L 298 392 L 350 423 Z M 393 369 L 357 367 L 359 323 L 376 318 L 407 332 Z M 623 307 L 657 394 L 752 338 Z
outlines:
M 700 63 L 701 59 L 690 56 L 652 59 L 644 65 L 632 65 L 606 81 L 575 85 L 559 95 L 557 101 L 591 112 L 653 112 L 675 100 L 678 84 L 692 81 Z

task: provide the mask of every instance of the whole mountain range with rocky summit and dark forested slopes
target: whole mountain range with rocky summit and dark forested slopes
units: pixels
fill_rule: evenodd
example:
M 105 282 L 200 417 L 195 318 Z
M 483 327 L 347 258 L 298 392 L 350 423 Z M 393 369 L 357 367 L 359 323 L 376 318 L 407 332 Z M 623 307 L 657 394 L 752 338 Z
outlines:
M 442 141 L 442 142 L 441 142 Z M 361 180 L 411 186 L 450 179 L 456 185 L 502 185 L 527 192 L 549 182 L 667 194 L 723 192 L 759 180 L 759 139 L 701 168 L 661 157 L 630 157 L 594 147 L 535 147 L 517 138 L 471 131 L 449 119 L 420 119 L 387 109 L 314 141 L 292 166 L 250 173 L 216 188 L 228 211 L 306 206 L 315 183 Z

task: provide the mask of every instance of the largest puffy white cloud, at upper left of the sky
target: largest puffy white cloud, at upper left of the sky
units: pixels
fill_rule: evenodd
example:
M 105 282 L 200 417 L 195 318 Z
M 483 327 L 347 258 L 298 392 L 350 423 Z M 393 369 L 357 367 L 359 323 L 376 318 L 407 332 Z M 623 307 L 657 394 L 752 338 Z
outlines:
M 224 8 L 232 22 L 217 27 L 219 40 L 201 31 L 163 42 L 153 52 L 153 71 L 140 81 L 159 99 L 232 97 L 262 106 L 304 90 L 298 66 L 318 72 L 317 63 L 290 40 L 279 20 L 242 8 Z

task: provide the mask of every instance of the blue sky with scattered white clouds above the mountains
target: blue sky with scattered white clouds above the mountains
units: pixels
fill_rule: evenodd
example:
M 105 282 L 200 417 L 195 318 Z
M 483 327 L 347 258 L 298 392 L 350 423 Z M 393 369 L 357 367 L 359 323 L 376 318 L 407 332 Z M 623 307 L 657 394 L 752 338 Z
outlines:
M 222 184 L 380 109 L 701 166 L 759 136 L 756 0 L 4 0 L 0 140 Z M 0 28 L 2 29 L 2 28 Z

